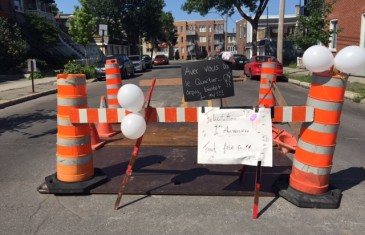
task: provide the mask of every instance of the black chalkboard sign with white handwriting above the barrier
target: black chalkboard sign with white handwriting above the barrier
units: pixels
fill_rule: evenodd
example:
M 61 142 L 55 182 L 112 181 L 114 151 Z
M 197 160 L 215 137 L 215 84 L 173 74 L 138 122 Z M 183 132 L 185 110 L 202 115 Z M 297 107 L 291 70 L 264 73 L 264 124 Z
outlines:
M 204 60 L 181 66 L 185 101 L 234 96 L 231 68 L 222 60 Z

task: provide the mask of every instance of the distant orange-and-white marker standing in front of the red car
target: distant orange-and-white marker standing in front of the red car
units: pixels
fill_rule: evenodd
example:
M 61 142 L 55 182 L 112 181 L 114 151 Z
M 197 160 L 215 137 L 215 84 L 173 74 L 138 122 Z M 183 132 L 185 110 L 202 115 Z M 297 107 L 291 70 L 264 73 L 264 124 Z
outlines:
M 271 90 L 272 82 L 276 82 L 276 63 L 264 62 L 261 66 L 259 107 L 275 106 L 275 98 Z

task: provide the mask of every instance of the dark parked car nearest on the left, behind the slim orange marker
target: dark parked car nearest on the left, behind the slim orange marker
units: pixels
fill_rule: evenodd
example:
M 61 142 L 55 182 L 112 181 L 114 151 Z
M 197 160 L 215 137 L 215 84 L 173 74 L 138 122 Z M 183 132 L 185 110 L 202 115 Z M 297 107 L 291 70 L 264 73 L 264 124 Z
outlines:
M 122 79 L 134 76 L 134 65 L 126 55 L 110 55 L 103 57 L 95 67 L 95 77 L 101 81 L 105 80 L 105 64 L 107 60 L 116 59 L 119 65 Z

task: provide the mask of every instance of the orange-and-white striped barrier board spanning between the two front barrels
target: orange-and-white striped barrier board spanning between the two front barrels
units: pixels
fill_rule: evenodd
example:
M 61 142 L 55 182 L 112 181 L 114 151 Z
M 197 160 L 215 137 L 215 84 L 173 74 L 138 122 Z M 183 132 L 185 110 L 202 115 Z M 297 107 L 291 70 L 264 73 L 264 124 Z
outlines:
M 149 122 L 197 122 L 199 107 L 151 108 Z M 273 122 L 312 122 L 313 107 L 275 106 Z M 145 110 L 142 110 L 144 113 Z M 73 109 L 72 123 L 120 123 L 129 112 L 125 109 Z

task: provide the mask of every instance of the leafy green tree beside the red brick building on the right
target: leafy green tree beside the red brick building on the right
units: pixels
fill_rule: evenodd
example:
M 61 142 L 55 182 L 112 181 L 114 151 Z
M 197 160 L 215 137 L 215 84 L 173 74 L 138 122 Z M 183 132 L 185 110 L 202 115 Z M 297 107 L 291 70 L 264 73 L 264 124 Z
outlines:
M 329 21 L 326 20 L 334 3 L 335 1 L 312 0 L 304 6 L 306 14 L 298 16 L 298 27 L 290 38 L 298 48 L 305 51 L 318 43 L 328 46 L 331 34 L 339 32 L 329 30 Z

